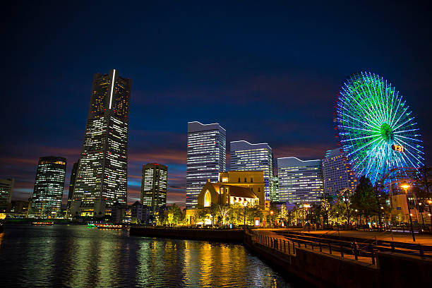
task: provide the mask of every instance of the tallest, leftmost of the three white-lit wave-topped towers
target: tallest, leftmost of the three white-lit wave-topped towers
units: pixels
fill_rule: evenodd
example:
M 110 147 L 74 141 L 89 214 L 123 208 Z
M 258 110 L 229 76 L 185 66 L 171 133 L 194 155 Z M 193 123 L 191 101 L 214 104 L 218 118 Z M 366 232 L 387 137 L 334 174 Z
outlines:
M 198 194 L 210 179 L 217 182 L 227 169 L 227 131 L 219 124 L 188 122 L 186 208 L 194 208 Z

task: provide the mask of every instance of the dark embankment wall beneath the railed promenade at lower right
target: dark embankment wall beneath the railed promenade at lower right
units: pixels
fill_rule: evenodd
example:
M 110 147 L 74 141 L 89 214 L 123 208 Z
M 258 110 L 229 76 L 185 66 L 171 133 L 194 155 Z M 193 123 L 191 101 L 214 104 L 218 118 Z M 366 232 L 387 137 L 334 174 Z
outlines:
M 405 288 L 429 287 L 432 283 L 431 258 L 377 252 L 376 264 L 368 264 L 299 247 L 293 253 L 283 253 L 278 248 L 257 243 L 248 233 L 244 245 L 271 265 L 318 287 Z

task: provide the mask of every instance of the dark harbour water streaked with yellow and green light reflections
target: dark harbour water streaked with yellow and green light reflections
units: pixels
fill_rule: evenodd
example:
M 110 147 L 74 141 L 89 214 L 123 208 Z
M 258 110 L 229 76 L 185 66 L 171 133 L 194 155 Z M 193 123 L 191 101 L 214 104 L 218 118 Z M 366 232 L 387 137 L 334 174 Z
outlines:
M 236 244 L 24 224 L 6 225 L 0 244 L 2 287 L 291 286 Z

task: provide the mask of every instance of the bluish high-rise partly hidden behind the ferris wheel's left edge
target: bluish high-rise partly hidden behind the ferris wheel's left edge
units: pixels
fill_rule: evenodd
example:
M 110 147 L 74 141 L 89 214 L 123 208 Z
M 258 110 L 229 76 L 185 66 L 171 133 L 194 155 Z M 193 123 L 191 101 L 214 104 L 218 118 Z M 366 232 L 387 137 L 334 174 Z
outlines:
M 324 191 L 335 196 L 338 191 L 349 188 L 354 191 L 359 183 L 349 168 L 344 152 L 340 149 L 328 150 L 323 160 Z

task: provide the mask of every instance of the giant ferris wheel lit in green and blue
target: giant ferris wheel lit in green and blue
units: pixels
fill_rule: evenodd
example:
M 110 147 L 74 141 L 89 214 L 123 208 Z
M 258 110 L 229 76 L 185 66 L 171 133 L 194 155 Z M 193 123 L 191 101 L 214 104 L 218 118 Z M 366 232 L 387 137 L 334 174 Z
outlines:
M 335 109 L 336 137 L 358 178 L 376 183 L 391 169 L 423 165 L 417 123 L 387 80 L 370 72 L 352 74 L 340 87 Z

